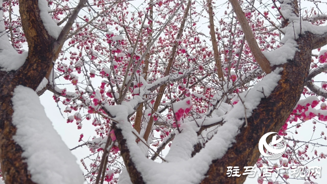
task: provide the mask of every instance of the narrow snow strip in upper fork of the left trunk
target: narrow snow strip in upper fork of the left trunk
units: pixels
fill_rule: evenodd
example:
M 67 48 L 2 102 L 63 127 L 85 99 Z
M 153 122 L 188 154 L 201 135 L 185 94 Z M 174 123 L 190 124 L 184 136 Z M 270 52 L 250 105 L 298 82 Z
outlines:
M 51 36 L 57 39 L 61 32 L 61 28 L 57 26 L 57 23 L 49 15 L 49 11 L 51 10 L 48 7 L 48 2 L 45 0 L 39 0 L 38 4 L 40 9 L 40 17 L 42 19 L 44 28 Z

